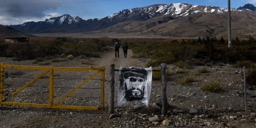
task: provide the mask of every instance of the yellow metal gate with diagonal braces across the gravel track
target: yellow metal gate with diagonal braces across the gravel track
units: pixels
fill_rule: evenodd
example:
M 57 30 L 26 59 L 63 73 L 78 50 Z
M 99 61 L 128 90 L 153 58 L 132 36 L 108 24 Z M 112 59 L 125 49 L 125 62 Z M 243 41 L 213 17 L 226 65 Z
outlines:
M 12 85 L 8 85 L 7 83 L 5 83 L 6 77 L 8 77 L 8 75 L 10 75 L 10 72 L 9 72 L 9 74 L 4 72 L 5 69 L 21 70 L 21 71 L 13 71 L 13 72 L 16 72 L 16 75 L 18 74 L 17 72 L 22 72 L 22 70 L 33 70 L 33 72 L 39 72 L 39 71 L 41 71 L 41 72 L 38 73 L 36 76 L 32 75 L 32 73 L 26 74 L 26 77 L 21 77 L 21 75 L 23 73 L 20 73 L 19 75 L 20 75 L 20 78 L 22 78 L 22 79 L 28 78 L 27 76 L 34 76 L 34 77 L 30 81 L 26 80 L 25 85 L 18 86 L 16 89 L 9 88 L 9 90 L 8 90 L 8 88 L 6 88 L 6 86 L 12 86 Z M 0 78 L 0 104 L 1 105 L 19 105 L 19 106 L 28 106 L 28 107 L 38 107 L 38 108 L 54 108 L 54 109 L 103 110 L 104 109 L 104 70 L 105 69 L 103 66 L 102 67 L 88 67 L 88 68 L 83 68 L 83 67 L 68 68 L 68 67 L 39 67 L 39 66 L 5 65 L 4 63 L 0 63 L 0 76 L 1 76 L 1 78 Z M 59 71 L 59 74 L 55 75 L 54 72 L 57 72 L 57 71 Z M 69 79 L 67 79 L 67 78 L 71 77 L 71 76 L 68 76 L 68 73 L 65 74 L 65 72 L 76 72 L 76 71 L 80 72 L 80 73 L 74 73 L 74 74 L 78 74 L 78 76 L 82 76 L 82 75 L 86 74 L 86 72 L 88 72 L 88 75 L 87 75 L 88 78 L 85 79 L 85 78 L 78 78 L 78 76 L 74 76 L 75 78 L 73 78 L 73 79 L 77 79 L 74 82 L 78 85 L 73 85 L 73 83 L 70 84 L 69 86 L 63 85 L 62 81 L 68 80 L 68 82 L 69 82 Z M 13 73 L 13 74 L 15 74 L 15 73 Z M 48 76 L 46 74 L 48 74 Z M 59 78 L 60 76 L 65 76 L 67 78 L 66 79 Z M 96 76 L 98 76 L 100 78 L 93 79 Z M 16 78 L 18 79 L 19 77 L 13 77 L 13 78 L 9 79 L 10 83 L 12 82 L 13 79 L 16 79 Z M 45 82 L 38 82 L 37 84 L 32 85 L 32 83 L 39 81 L 39 79 L 46 79 L 48 85 L 44 84 Z M 59 87 L 54 86 L 55 79 L 59 80 L 58 81 Z M 92 84 L 100 86 L 100 87 L 99 88 L 95 88 L 95 87 L 83 88 L 82 86 L 87 86 L 86 84 L 90 80 L 91 81 L 94 80 L 95 82 L 93 82 Z M 99 84 L 97 84 L 97 81 L 99 81 Z M 13 83 L 13 85 L 14 84 L 22 84 L 22 83 L 23 82 L 16 82 L 16 83 Z M 63 87 L 63 86 L 67 86 L 67 87 Z M 27 88 L 27 87 L 34 87 L 30 90 L 35 90 L 38 88 L 40 88 L 40 89 L 36 90 L 35 93 L 32 95 L 26 96 L 26 94 L 30 93 L 29 91 L 25 90 L 25 88 Z M 100 100 L 99 99 L 96 100 L 96 101 L 100 102 L 99 103 L 100 105 L 99 106 L 97 106 L 97 105 L 91 106 L 90 104 L 94 104 L 94 103 L 89 100 L 83 100 L 83 101 L 76 100 L 76 98 L 80 98 L 80 99 L 88 98 L 88 97 L 78 97 L 78 96 L 81 96 L 86 93 L 87 93 L 87 96 L 97 94 L 97 91 L 95 91 L 95 93 L 94 93 L 93 91 L 84 92 L 83 90 L 79 90 L 80 93 L 77 93 L 77 94 L 74 93 L 75 91 L 78 91 L 78 89 L 81 89 L 81 88 L 88 89 L 88 90 L 89 89 L 99 89 L 98 95 L 100 95 L 100 96 L 92 97 L 92 98 L 100 98 Z M 61 91 L 61 92 L 66 92 L 66 94 L 59 93 L 59 95 L 61 95 L 61 96 L 57 96 L 58 91 L 61 89 L 62 90 L 69 89 L 69 90 Z M 35 99 L 35 98 L 42 97 L 43 95 L 41 95 L 41 94 L 45 94 L 45 93 L 46 93 L 46 96 L 44 96 L 44 97 L 46 97 L 45 98 L 46 103 L 32 103 L 31 102 L 31 101 L 44 102 L 43 98 L 38 98 L 38 99 Z M 19 96 L 16 96 L 18 94 L 20 94 L 20 97 L 23 96 L 24 98 L 19 99 Z M 74 95 L 74 96 L 71 96 L 71 95 Z M 16 97 L 13 98 L 14 96 L 16 96 Z M 60 103 L 63 100 L 65 100 L 66 98 L 74 98 L 74 99 L 70 99 L 67 102 L 65 101 L 63 103 Z M 11 99 L 13 99 L 13 100 L 11 100 Z M 24 101 L 24 102 L 20 102 L 20 101 Z M 76 101 L 76 103 L 78 103 L 78 104 L 88 103 L 89 105 L 87 105 L 87 106 L 72 105 L 72 102 L 74 102 L 74 101 Z M 81 102 L 84 102 L 84 103 L 81 103 Z

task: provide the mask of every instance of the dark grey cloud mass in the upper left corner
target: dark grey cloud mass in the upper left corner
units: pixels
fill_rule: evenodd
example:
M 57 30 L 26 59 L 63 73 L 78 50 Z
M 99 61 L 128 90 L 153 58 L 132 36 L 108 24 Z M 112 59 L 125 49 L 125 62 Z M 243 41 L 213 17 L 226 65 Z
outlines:
M 63 1 L 65 0 L 3 0 L 0 4 L 0 10 L 1 15 L 16 18 L 42 17 L 45 15 L 45 11 L 56 10 Z

